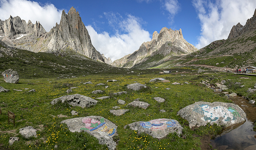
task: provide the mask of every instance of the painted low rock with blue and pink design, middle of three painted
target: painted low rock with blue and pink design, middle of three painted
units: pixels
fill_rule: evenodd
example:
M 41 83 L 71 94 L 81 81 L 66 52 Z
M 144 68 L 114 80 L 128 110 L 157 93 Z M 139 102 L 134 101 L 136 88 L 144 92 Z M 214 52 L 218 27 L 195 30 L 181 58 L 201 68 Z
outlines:
M 154 119 L 150 121 L 138 121 L 128 124 L 131 130 L 139 133 L 146 133 L 154 138 L 166 137 L 169 133 L 176 132 L 177 135 L 182 134 L 183 127 L 177 120 L 173 119 Z M 127 125 L 124 127 L 126 128 Z

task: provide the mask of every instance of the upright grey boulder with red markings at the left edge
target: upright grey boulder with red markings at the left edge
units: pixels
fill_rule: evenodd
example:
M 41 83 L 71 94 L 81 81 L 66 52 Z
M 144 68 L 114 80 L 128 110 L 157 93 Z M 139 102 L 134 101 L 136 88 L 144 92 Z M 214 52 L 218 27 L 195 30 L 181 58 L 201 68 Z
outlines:
M 6 83 L 14 83 L 17 84 L 19 82 L 19 75 L 17 71 L 13 71 L 12 69 L 5 70 L 2 72 L 3 80 Z

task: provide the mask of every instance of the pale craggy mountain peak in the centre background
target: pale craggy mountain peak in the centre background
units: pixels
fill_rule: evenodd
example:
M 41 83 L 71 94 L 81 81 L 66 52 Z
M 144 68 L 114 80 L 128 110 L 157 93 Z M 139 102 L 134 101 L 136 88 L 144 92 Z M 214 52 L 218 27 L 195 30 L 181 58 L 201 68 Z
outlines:
M 170 56 L 188 54 L 197 50 L 194 45 L 189 44 L 183 38 L 181 29 L 172 30 L 164 27 L 160 33 L 157 31 L 153 33 L 152 41 L 144 42 L 138 50 L 115 60 L 111 65 L 147 68 L 162 63 Z

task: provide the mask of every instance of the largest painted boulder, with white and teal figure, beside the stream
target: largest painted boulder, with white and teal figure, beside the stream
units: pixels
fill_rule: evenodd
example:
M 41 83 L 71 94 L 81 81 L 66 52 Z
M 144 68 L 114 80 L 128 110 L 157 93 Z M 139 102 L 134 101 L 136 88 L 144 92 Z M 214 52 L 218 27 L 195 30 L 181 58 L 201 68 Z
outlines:
M 242 108 L 232 103 L 223 102 L 196 102 L 177 112 L 189 122 L 189 127 L 211 125 L 225 125 L 226 127 L 242 123 L 246 114 Z

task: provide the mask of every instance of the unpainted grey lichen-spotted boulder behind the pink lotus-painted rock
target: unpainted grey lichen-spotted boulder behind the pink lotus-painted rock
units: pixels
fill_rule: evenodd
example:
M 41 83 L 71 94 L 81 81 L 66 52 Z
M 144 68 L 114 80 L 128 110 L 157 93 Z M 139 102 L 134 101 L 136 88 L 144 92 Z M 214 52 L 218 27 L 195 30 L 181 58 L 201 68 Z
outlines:
M 96 101 L 95 99 L 92 99 L 90 97 L 84 96 L 84 95 L 80 95 L 80 94 L 73 94 L 73 95 L 65 95 L 65 96 L 61 96 L 57 99 L 54 99 L 51 104 L 54 105 L 56 104 L 58 101 L 61 101 L 62 103 L 64 103 L 65 101 L 68 102 L 68 104 L 72 105 L 72 106 L 79 106 L 79 107 L 90 107 L 92 105 L 96 105 L 98 101 Z

